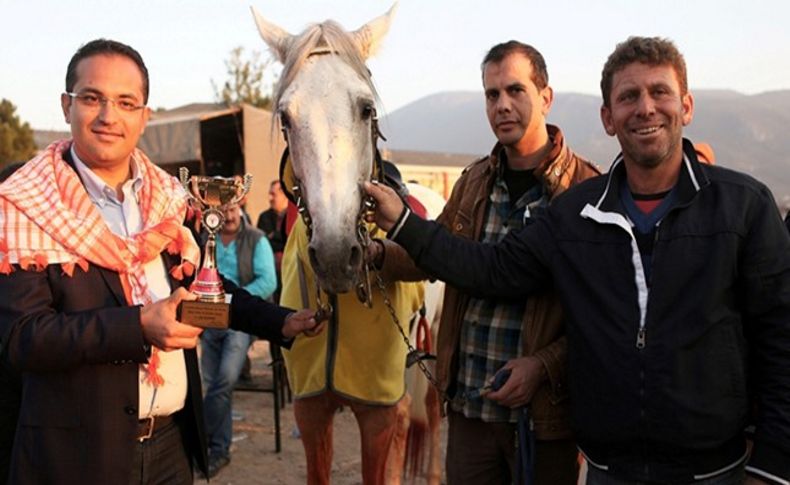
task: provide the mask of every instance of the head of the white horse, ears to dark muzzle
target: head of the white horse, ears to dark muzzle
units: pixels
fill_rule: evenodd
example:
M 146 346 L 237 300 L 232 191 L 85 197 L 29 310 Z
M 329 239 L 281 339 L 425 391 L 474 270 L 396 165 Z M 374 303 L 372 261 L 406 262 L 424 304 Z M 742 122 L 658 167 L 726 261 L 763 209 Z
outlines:
M 309 212 L 310 263 L 330 293 L 351 289 L 364 263 L 362 183 L 374 170 L 378 137 L 377 95 L 365 60 L 387 33 L 394 9 L 353 32 L 328 20 L 291 35 L 252 8 L 261 37 L 283 64 L 273 113 Z

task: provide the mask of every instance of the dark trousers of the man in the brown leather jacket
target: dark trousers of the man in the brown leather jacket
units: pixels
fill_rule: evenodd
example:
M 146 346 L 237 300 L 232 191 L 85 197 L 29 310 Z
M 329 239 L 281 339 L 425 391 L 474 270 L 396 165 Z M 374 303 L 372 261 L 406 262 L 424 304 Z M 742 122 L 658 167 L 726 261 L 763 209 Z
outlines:
M 448 485 L 509 485 L 515 479 L 516 425 L 486 423 L 450 411 Z M 573 440 L 535 442 L 535 485 L 575 485 L 579 474 Z

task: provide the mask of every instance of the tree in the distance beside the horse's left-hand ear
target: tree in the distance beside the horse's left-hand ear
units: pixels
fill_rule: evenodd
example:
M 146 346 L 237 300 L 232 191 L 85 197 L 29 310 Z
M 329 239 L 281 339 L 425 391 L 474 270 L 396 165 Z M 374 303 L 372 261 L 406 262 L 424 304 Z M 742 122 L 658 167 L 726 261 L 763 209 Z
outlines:
M 246 58 L 244 47 L 232 49 L 225 61 L 228 79 L 222 84 L 222 89 L 218 89 L 217 84 L 211 81 L 217 102 L 228 106 L 247 103 L 269 109 L 272 104 L 272 83 L 266 82 L 266 74 L 272 65 L 272 59 L 262 60 L 258 51 L 252 51 Z

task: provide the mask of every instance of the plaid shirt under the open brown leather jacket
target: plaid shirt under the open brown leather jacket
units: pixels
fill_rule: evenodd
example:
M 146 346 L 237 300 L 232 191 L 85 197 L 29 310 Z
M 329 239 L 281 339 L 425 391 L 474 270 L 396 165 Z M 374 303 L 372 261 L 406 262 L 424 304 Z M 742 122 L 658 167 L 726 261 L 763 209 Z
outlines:
M 515 204 L 511 204 L 504 180 L 503 156 L 500 156 L 500 161 L 499 173 L 488 199 L 481 242 L 501 241 L 509 231 L 520 230 L 529 223 L 530 217 L 548 206 L 548 196 L 541 184 L 527 190 Z M 507 361 L 521 355 L 521 325 L 525 306 L 526 299 L 469 299 L 458 346 L 456 396 L 462 399 L 453 405 L 455 411 L 485 422 L 515 423 L 518 420 L 516 410 L 495 401 L 483 397 L 464 397 L 484 386 Z

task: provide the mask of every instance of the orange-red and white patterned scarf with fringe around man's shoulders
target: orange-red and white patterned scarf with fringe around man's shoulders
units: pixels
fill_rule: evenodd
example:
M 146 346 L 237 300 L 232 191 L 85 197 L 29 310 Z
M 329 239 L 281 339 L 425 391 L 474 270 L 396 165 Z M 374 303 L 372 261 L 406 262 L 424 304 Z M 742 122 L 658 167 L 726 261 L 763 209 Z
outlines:
M 143 266 L 162 251 L 180 254 L 181 264 L 171 270 L 176 279 L 191 275 L 200 250 L 184 227 L 187 204 L 178 181 L 136 149 L 132 154 L 143 185 L 139 192 L 143 229 L 131 237 L 113 233 L 93 205 L 77 173 L 63 160 L 71 146 L 62 140 L 48 146 L 0 184 L 0 273 L 43 271 L 60 264 L 71 276 L 89 264 L 117 272 L 130 305 L 151 303 Z M 158 356 L 147 366 L 153 385 Z

